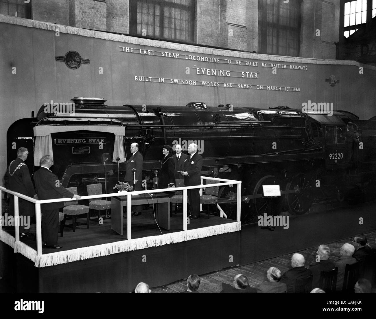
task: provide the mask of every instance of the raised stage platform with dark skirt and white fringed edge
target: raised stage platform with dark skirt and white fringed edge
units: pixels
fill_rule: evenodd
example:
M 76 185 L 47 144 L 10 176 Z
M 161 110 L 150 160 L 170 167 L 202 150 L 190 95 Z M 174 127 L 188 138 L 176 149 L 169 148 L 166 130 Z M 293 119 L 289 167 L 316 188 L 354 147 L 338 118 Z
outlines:
M 140 281 L 149 283 L 150 287 L 161 286 L 192 272 L 207 273 L 239 264 L 240 232 L 218 235 L 215 232 L 223 231 L 224 227 L 236 230 L 240 223 L 217 216 L 206 219 L 203 214 L 187 225 L 186 240 L 162 244 L 163 239 L 168 241 L 172 236 L 184 237 L 179 229 L 181 224 L 182 213 L 174 214 L 170 231 L 162 230 L 161 235 L 153 213 L 143 213 L 132 218 L 134 239 L 130 241 L 111 229 L 110 219 L 103 220 L 103 225 L 91 221 L 89 229 L 85 225 L 77 226 L 75 232 L 65 228 L 64 236 L 58 238 L 59 245 L 63 246 L 61 250 L 43 249 L 43 257 L 55 260 L 54 266 L 36 266 L 35 261 L 20 253 L 14 254 L 11 245 L 1 242 L 2 259 L 6 263 L 3 276 L 12 278 L 11 285 L 17 292 L 124 293 L 134 290 Z M 35 225 L 29 231 L 35 233 Z M 12 232 L 1 232 L 2 237 L 13 237 Z M 189 234 L 197 239 L 188 238 L 192 237 Z M 158 246 L 141 247 L 147 246 L 148 241 L 155 244 L 158 240 L 161 241 Z M 36 249 L 33 239 L 23 239 L 22 244 Z M 80 255 L 78 259 L 82 260 L 57 263 L 75 255 Z

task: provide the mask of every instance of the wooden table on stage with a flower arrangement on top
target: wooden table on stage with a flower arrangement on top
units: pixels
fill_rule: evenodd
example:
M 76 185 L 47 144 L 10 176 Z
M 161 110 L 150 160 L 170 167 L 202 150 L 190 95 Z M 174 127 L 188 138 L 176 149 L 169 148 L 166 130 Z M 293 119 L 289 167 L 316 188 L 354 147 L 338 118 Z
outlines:
M 139 194 L 132 196 L 132 206 L 145 204 L 156 204 L 155 219 L 158 225 L 161 228 L 170 230 L 170 195 L 166 193 L 155 193 L 153 195 Z M 126 206 L 127 196 L 111 197 L 111 229 L 120 235 L 124 234 L 123 207 Z

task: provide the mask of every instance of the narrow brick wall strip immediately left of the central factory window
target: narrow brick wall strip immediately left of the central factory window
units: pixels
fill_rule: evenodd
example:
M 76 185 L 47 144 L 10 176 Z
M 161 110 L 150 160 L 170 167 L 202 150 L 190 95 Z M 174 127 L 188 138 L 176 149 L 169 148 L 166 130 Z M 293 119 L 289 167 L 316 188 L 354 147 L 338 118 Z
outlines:
M 129 33 L 129 0 L 106 0 L 106 30 Z

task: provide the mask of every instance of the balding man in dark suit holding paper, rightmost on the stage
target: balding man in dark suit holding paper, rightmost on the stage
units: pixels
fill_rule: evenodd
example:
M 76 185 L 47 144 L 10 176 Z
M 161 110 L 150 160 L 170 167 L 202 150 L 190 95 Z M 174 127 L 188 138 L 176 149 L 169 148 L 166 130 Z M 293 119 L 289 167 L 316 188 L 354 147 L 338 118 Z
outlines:
M 194 186 L 201 184 L 201 168 L 202 157 L 197 153 L 197 144 L 190 144 L 188 146 L 188 153 L 190 158 L 186 158 L 184 161 L 184 185 Z M 190 202 L 191 214 L 188 216 L 190 219 L 200 218 L 200 189 L 187 190 L 188 201 Z

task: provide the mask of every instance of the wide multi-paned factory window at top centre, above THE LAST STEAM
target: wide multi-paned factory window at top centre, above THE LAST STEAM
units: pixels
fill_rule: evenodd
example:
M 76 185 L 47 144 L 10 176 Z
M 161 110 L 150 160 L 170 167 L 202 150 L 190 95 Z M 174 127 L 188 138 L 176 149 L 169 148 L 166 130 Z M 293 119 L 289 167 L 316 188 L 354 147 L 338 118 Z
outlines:
M 194 41 L 195 0 L 130 0 L 130 34 Z

